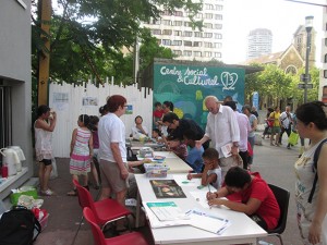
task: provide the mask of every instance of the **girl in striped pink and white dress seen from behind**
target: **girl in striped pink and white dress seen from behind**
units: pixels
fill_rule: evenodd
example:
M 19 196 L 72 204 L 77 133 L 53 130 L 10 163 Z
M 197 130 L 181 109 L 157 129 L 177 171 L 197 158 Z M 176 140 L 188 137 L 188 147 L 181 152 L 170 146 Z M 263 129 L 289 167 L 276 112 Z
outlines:
M 81 114 L 77 121 L 78 127 L 73 131 L 71 142 L 71 161 L 70 173 L 73 180 L 78 181 L 78 176 L 83 176 L 83 186 L 88 188 L 87 173 L 90 172 L 90 159 L 93 157 L 93 136 L 87 128 L 89 124 L 89 117 Z M 68 193 L 69 196 L 76 196 L 76 189 Z

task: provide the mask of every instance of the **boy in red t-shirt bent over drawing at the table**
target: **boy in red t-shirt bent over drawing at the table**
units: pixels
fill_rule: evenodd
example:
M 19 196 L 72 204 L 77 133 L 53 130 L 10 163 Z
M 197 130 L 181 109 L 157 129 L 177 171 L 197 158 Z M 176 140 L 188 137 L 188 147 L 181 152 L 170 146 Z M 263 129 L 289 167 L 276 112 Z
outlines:
M 264 230 L 275 229 L 278 224 L 278 203 L 258 172 L 250 173 L 242 168 L 232 167 L 225 176 L 222 187 L 215 193 L 207 193 L 207 199 L 209 206 L 223 205 L 244 212 Z

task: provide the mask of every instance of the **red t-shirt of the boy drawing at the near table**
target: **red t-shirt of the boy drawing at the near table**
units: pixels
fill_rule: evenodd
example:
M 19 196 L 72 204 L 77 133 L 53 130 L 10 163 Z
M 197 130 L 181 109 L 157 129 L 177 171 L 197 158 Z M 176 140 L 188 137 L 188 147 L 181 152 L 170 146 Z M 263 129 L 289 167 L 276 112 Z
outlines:
M 231 194 L 228 196 L 228 199 L 235 201 L 237 199 L 240 199 L 243 204 L 246 204 L 250 198 L 261 200 L 262 205 L 255 213 L 262 217 L 266 221 L 268 230 L 271 230 L 277 226 L 280 217 L 278 203 L 272 191 L 261 177 L 259 173 L 255 172 L 251 173 L 251 175 L 255 176 L 252 180 L 251 185 L 240 193 Z

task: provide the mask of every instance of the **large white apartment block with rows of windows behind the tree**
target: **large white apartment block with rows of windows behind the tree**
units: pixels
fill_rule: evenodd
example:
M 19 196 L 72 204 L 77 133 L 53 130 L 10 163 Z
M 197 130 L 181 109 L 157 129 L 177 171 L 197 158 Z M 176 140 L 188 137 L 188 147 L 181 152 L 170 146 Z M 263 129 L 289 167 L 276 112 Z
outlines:
M 179 60 L 221 60 L 222 10 L 223 0 L 203 0 L 203 9 L 195 17 L 195 21 L 203 20 L 203 32 L 192 27 L 183 9 L 172 14 L 164 11 L 160 20 L 149 20 L 144 26 L 150 28 L 158 44 L 170 48 Z

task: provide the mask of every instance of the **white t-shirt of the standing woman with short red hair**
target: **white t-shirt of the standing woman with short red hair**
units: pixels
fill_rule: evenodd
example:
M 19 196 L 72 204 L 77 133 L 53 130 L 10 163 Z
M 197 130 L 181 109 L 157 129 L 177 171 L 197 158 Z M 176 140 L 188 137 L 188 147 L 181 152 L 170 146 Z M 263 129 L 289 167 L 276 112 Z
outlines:
M 100 159 L 116 162 L 111 143 L 119 143 L 122 161 L 126 162 L 125 125 L 114 113 L 104 115 L 98 124 L 99 157 Z

